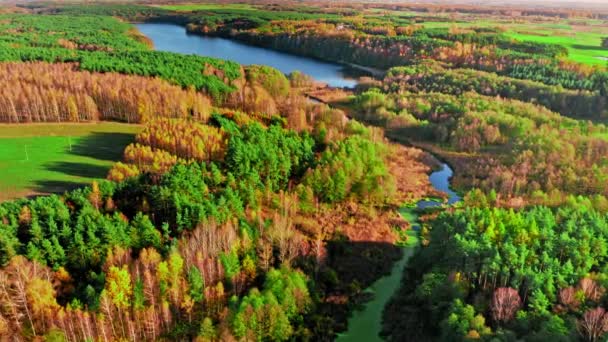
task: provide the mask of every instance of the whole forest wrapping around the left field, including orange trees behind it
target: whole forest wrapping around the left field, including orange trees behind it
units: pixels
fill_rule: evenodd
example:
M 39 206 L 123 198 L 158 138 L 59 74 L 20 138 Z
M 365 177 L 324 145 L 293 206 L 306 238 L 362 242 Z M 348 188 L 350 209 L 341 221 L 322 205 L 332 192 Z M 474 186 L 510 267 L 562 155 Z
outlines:
M 400 254 L 394 205 L 412 195 L 389 154 L 415 169 L 412 188 L 429 167 L 421 151 L 304 100 L 302 76 L 241 72 L 226 107 L 213 108 L 161 79 L 5 65 L 20 85 L 6 90 L 20 106 L 7 121 L 145 126 L 110 181 L 0 204 L 2 336 L 285 340 L 344 329 L 360 289 Z M 347 247 L 358 240 L 378 242 Z

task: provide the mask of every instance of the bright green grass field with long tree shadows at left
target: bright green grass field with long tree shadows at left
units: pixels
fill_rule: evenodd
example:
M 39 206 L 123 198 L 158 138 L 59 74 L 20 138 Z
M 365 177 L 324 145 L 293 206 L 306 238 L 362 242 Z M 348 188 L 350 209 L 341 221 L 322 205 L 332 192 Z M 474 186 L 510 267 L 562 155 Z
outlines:
M 0 201 L 61 193 L 103 179 L 137 125 L 0 125 Z

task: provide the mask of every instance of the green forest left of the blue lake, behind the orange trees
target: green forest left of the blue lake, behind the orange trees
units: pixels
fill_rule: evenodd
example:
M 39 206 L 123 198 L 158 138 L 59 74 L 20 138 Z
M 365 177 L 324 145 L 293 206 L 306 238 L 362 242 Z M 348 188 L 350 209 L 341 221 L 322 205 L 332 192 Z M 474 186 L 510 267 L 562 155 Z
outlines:
M 81 70 L 159 77 L 221 101 L 241 78 L 233 62 L 150 51 L 132 26 L 104 16 L 0 17 L 0 61 L 76 62 Z M 51 34 L 47 34 L 51 32 Z

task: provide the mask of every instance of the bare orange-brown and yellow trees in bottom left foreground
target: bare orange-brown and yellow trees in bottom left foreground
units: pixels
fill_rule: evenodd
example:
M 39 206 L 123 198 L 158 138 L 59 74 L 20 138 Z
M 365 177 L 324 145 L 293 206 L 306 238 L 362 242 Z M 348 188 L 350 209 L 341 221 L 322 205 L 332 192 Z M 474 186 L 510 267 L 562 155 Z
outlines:
M 97 312 L 60 306 L 56 298 L 70 291 L 74 280 L 62 269 L 53 273 L 17 256 L 0 270 L 0 338 L 27 329 L 33 337 L 58 329 L 67 341 L 155 340 L 180 320 L 216 317 L 228 298 L 218 257 L 237 243 L 235 229 L 200 226 L 166 259 L 153 248 L 142 250 L 136 259 L 130 251 L 111 251 L 103 267 L 106 286 Z M 206 284 L 200 298 L 191 297 L 186 280 L 193 268 Z M 248 279 L 245 271 L 240 281 Z M 235 278 L 235 289 L 238 281 Z

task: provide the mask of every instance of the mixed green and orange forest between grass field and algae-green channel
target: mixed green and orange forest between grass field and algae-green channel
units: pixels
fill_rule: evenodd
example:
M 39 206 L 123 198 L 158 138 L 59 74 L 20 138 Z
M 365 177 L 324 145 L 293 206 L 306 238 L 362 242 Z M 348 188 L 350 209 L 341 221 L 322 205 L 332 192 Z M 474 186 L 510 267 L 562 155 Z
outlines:
M 127 162 L 152 172 L 0 205 L 4 336 L 285 340 L 327 333 L 304 322 L 322 319 L 309 308 L 327 305 L 335 285 L 311 287 L 293 266 L 315 277 L 340 274 L 320 268 L 315 260 L 327 252 L 315 239 L 322 237 L 297 220 L 344 201 L 384 210 L 395 193 L 379 152 L 386 147 L 360 128 L 364 135 L 324 144 L 276 124 L 177 120 L 152 121 L 125 151 Z M 328 173 L 337 165 L 341 172 Z M 336 196 L 322 197 L 329 184 Z

